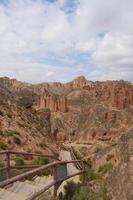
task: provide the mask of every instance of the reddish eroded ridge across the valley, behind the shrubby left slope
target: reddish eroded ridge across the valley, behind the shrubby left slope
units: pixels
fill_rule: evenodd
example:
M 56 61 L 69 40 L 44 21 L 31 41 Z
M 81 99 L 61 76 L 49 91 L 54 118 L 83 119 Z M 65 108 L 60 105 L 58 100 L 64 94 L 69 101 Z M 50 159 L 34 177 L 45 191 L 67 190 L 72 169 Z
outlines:
M 49 130 L 54 127 L 51 134 L 58 139 L 112 140 L 133 124 L 133 85 L 129 82 L 92 82 L 81 76 L 69 83 L 36 85 L 0 78 L 0 85 L 14 96 L 17 106 L 36 113 L 48 109 Z

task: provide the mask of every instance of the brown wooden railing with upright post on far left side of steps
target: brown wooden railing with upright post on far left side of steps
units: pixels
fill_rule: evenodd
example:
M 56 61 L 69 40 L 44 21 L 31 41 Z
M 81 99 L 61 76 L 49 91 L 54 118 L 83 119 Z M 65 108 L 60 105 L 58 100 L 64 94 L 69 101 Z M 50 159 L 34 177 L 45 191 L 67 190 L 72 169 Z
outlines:
M 31 169 L 31 168 L 37 168 L 40 165 L 22 165 L 22 166 L 12 166 L 11 165 L 11 155 L 23 155 L 23 156 L 37 156 L 37 157 L 45 157 L 45 158 L 51 158 L 53 160 L 59 160 L 57 157 L 50 155 L 50 154 L 38 154 L 38 153 L 27 153 L 27 152 L 17 152 L 17 151 L 0 151 L 0 155 L 6 156 L 6 166 L 0 168 L 0 171 L 6 171 L 6 178 L 9 179 L 11 176 L 11 169 Z

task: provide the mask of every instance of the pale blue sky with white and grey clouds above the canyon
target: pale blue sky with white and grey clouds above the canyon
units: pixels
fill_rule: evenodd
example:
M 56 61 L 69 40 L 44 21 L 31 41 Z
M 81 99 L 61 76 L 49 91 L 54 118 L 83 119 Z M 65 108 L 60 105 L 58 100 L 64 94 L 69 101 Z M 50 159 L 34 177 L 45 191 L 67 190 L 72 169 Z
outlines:
M 133 81 L 133 0 L 0 0 L 0 76 Z

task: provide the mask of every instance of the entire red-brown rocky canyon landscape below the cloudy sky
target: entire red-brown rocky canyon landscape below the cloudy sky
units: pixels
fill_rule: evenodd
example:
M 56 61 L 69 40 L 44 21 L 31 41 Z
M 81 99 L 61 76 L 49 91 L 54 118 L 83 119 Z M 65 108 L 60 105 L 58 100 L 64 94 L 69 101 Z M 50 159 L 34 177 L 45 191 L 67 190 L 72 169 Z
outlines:
M 81 76 L 68 83 L 31 84 L 0 78 L 0 150 L 58 155 L 70 143 L 96 171 L 113 165 L 104 177 L 112 200 L 132 200 L 132 180 L 114 178 L 132 176 L 132 127 L 131 82 Z

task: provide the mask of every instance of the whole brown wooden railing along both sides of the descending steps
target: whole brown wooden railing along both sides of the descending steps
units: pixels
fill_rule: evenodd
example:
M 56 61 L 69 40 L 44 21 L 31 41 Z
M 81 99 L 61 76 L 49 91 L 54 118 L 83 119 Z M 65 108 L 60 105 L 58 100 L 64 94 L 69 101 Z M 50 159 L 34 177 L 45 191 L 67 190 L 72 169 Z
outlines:
M 1 168 L 0 170 L 6 170 L 7 171 L 7 179 L 0 182 L 0 188 L 6 187 L 10 184 L 13 184 L 16 181 L 19 180 L 25 180 L 28 179 L 29 177 L 34 177 L 40 173 L 42 173 L 44 170 L 48 169 L 48 168 L 52 168 L 52 172 L 53 172 L 53 182 L 49 183 L 46 187 L 44 187 L 42 190 L 40 190 L 39 192 L 33 194 L 29 200 L 34 200 L 37 197 L 39 197 L 41 194 L 43 194 L 45 191 L 47 191 L 48 189 L 50 189 L 51 187 L 54 186 L 54 200 L 56 199 L 57 196 L 57 190 L 59 185 L 64 181 L 67 180 L 73 176 L 76 175 L 80 175 L 81 173 L 85 172 L 85 169 L 82 168 L 80 171 L 69 175 L 68 173 L 65 176 L 59 176 L 59 172 L 58 168 L 59 166 L 65 166 L 65 168 L 67 169 L 67 165 L 70 163 L 83 163 L 82 160 L 71 160 L 71 161 L 54 161 L 52 163 L 49 163 L 47 165 L 43 165 L 43 166 L 11 166 L 10 165 L 10 155 L 11 154 L 15 154 L 15 155 L 25 155 L 25 156 L 39 156 L 39 157 L 48 157 L 48 158 L 52 158 L 52 159 L 56 159 L 58 160 L 56 157 L 52 156 L 52 155 L 48 155 L 48 154 L 36 154 L 36 153 L 25 153 L 25 152 L 16 152 L 16 151 L 2 151 L 0 152 L 0 155 L 6 155 L 7 158 L 7 166 L 4 168 Z M 83 164 L 82 164 L 83 166 Z M 22 173 L 20 175 L 17 175 L 15 177 L 9 178 L 10 177 L 10 170 L 13 168 L 36 168 L 36 169 L 32 169 L 28 172 Z

